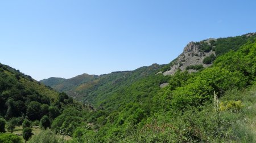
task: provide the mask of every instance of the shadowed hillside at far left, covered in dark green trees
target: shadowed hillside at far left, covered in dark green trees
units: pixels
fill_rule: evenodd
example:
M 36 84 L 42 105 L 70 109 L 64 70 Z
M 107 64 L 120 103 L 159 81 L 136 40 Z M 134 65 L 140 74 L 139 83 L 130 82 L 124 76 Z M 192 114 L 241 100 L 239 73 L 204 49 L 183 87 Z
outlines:
M 9 66 L 0 63 L 0 116 L 7 120 L 28 116 L 30 120 L 40 120 L 43 115 L 52 119 L 66 107 L 78 107 L 80 103 L 73 101 L 64 93 L 40 84 L 31 76 L 20 73 Z M 47 108 L 43 111 L 42 108 Z M 56 111 L 49 115 L 48 109 Z

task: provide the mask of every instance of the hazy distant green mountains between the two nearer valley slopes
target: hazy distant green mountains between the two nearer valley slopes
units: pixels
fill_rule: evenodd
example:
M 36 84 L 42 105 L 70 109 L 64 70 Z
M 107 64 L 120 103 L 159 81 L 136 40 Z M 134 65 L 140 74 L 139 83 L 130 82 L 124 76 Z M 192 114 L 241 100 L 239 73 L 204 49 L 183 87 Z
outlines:
M 162 67 L 163 65 L 152 64 L 134 71 L 118 71 L 100 76 L 83 74 L 67 80 L 51 77 L 40 82 L 47 86 L 55 83 L 52 84 L 52 88 L 98 107 L 114 91 L 121 90 L 122 87 L 129 86 L 149 75 L 155 75 Z

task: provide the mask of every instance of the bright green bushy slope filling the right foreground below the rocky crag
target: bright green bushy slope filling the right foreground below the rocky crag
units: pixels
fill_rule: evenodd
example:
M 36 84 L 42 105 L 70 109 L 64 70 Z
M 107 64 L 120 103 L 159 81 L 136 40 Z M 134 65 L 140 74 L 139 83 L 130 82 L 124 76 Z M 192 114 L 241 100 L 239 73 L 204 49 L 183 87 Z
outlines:
M 119 87 L 92 114 L 97 128 L 73 141 L 255 142 L 256 42 L 247 40 L 196 73 L 149 75 Z M 169 85 L 160 88 L 159 84 Z

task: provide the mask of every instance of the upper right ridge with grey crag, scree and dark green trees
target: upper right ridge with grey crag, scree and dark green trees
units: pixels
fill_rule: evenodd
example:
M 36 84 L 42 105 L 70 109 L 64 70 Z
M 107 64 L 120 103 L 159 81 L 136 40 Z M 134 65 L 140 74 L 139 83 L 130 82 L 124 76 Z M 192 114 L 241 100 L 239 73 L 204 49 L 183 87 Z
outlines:
M 163 67 L 159 73 L 174 75 L 177 70 L 197 72 L 204 67 L 212 65 L 214 59 L 229 50 L 238 50 L 247 41 L 253 41 L 256 33 L 243 34 L 242 36 L 227 38 L 209 38 L 200 42 L 189 42 L 184 47 L 183 53 L 175 60 Z

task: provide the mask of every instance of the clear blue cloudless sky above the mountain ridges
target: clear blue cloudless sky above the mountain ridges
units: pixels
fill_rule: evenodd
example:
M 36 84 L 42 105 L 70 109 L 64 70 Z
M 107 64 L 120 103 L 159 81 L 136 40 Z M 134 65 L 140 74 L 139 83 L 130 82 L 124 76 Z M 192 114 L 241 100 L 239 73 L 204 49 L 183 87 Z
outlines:
M 256 32 L 256 1 L 0 1 L 0 62 L 36 80 L 169 63 L 189 41 Z

